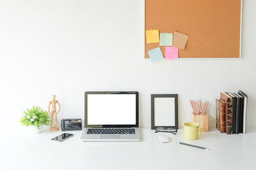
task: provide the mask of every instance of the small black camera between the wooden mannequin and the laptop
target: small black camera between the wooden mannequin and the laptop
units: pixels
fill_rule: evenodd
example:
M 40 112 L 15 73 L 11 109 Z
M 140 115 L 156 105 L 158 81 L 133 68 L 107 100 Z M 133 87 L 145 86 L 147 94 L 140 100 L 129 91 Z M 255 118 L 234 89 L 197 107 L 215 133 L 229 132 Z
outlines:
M 63 118 L 61 119 L 61 131 L 81 131 L 81 118 Z

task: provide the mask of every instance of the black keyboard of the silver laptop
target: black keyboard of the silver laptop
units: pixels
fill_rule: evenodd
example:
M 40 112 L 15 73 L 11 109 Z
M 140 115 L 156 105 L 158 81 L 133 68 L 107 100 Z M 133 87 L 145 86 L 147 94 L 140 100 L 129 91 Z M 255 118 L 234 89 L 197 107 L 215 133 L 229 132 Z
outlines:
M 90 128 L 87 134 L 135 134 L 134 128 Z

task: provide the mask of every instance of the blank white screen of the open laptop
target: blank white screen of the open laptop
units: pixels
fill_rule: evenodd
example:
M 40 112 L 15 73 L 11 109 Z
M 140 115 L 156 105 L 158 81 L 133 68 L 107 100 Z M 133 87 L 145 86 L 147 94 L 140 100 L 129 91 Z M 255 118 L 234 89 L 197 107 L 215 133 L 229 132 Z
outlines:
M 88 125 L 135 125 L 136 94 L 88 94 Z

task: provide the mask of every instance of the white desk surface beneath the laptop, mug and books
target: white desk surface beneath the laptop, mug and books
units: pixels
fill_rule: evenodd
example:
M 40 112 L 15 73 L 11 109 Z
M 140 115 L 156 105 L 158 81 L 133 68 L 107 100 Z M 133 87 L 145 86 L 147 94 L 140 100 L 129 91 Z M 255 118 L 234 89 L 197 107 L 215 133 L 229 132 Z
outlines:
M 140 142 L 86 143 L 79 140 L 81 131 L 72 131 L 75 136 L 67 141 L 50 140 L 61 133 L 1 137 L 1 169 L 255 169 L 256 132 L 227 135 L 214 129 L 201 139 L 186 141 L 180 129 L 177 135 L 161 133 L 170 142 L 159 143 L 154 131 L 141 129 Z

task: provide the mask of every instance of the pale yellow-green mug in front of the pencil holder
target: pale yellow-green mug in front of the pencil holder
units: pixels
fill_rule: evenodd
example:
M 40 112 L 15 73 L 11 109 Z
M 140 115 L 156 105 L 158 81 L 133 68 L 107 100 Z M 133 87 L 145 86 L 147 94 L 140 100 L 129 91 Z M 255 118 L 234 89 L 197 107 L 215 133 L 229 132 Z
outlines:
M 200 130 L 200 135 L 198 132 Z M 199 127 L 199 124 L 188 122 L 184 124 L 184 138 L 189 140 L 196 140 L 202 136 L 202 129 Z

